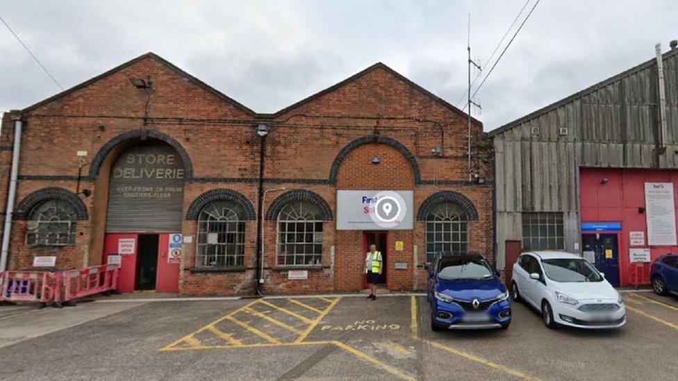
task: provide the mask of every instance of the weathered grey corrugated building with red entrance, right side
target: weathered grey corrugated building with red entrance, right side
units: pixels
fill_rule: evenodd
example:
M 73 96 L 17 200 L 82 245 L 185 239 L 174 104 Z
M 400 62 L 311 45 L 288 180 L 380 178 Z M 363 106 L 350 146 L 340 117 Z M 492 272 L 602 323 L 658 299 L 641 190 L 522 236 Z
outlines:
M 645 205 L 643 192 L 646 183 L 678 185 L 675 42 L 667 53 L 658 48 L 656 58 L 497 128 L 490 137 L 498 268 L 509 269 L 521 249 L 565 250 L 595 257 L 599 269 L 615 260 L 620 284 L 629 285 L 649 281 L 649 266 L 635 273 L 643 265 L 629 262 L 630 251 L 650 251 L 654 260 L 678 249 L 671 239 L 656 241 L 656 232 L 648 230 L 646 220 L 656 216 L 645 212 L 651 205 Z M 675 224 L 673 230 L 675 236 Z M 642 244 L 631 245 L 629 234 L 640 231 L 647 242 L 643 237 Z

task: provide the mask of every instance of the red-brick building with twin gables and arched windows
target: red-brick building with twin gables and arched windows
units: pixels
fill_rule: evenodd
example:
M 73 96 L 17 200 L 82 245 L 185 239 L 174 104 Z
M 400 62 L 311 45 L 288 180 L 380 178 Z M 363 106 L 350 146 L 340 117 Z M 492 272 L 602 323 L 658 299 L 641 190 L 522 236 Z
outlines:
M 8 269 L 120 261 L 123 291 L 248 294 L 259 278 L 286 294 L 363 289 L 373 242 L 392 290 L 422 289 L 434 251 L 493 255 L 466 115 L 381 63 L 261 114 L 144 54 L 5 114 L 3 212 L 17 121 Z M 393 223 L 375 219 L 383 200 Z

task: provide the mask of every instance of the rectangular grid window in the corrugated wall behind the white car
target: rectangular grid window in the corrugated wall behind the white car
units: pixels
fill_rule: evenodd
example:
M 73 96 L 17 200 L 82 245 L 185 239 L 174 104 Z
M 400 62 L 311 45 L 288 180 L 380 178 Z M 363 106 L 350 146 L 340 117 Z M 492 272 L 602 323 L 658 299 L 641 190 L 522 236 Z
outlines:
M 563 213 L 522 214 L 523 250 L 565 250 Z

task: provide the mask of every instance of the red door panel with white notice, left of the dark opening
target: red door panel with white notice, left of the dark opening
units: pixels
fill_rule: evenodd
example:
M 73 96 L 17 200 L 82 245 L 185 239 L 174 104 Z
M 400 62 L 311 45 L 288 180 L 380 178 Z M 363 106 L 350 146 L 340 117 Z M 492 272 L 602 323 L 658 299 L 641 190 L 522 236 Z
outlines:
M 135 233 L 108 233 L 104 237 L 104 258 L 101 263 L 108 264 L 108 255 L 112 254 L 120 254 L 122 258 L 117 278 L 117 290 L 120 292 L 134 291 L 138 246 Z

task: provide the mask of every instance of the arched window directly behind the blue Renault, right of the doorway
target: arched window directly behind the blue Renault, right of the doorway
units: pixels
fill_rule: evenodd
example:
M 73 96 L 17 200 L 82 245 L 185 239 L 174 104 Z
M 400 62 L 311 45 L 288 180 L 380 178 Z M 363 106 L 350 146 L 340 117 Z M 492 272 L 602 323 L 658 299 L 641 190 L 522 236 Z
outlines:
M 456 203 L 439 203 L 426 217 L 427 262 L 440 251 L 468 251 L 468 215 Z

